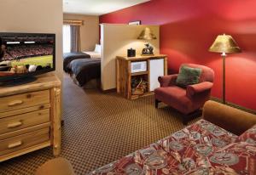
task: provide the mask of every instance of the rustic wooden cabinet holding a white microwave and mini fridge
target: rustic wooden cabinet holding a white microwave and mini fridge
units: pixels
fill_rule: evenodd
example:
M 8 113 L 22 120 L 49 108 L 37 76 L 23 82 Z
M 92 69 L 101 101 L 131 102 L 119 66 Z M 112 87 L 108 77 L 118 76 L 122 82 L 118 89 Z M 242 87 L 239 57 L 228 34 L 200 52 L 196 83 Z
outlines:
M 124 57 L 117 56 L 117 92 L 127 99 L 153 94 L 154 88 L 159 87 L 158 76 L 167 75 L 167 57 L 165 54 Z M 134 78 L 147 82 L 147 88 L 143 94 L 133 94 L 131 82 Z

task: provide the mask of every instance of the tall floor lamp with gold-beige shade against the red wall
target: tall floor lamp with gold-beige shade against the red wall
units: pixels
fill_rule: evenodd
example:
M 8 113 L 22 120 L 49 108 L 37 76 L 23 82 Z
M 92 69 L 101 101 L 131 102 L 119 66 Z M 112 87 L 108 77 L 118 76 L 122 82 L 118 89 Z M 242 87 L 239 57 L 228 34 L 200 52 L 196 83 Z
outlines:
M 227 54 L 230 53 L 240 53 L 241 49 L 237 46 L 235 40 L 230 35 L 218 35 L 215 41 L 212 43 L 211 48 L 209 48 L 210 52 L 221 53 L 223 58 L 223 88 L 222 88 L 222 100 L 223 104 L 226 104 L 226 94 L 225 94 L 225 59 Z

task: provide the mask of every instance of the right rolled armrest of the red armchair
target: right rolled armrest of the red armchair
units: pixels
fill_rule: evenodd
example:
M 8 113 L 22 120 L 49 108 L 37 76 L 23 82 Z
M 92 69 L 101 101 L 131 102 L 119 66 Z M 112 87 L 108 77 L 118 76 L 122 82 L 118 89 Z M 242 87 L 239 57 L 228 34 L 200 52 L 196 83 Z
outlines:
M 203 93 L 206 92 L 207 90 L 211 90 L 213 86 L 212 82 L 201 82 L 198 84 L 193 84 L 187 86 L 187 96 L 188 97 L 193 97 L 196 93 Z

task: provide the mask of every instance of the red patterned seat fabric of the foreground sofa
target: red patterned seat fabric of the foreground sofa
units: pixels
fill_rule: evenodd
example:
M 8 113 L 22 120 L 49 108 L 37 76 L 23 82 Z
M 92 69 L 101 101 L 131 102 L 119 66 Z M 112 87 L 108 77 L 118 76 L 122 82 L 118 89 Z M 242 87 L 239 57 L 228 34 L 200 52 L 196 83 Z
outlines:
M 235 134 L 200 120 L 90 174 L 256 174 L 255 145 L 237 140 Z

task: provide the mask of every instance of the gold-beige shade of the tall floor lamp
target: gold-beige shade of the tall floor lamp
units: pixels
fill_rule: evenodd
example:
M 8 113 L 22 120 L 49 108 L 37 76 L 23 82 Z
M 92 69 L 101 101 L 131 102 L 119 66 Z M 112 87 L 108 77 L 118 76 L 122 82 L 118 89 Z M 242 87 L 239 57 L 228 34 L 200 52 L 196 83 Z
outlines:
M 241 49 L 230 35 L 219 35 L 212 43 L 210 52 L 214 53 L 240 53 Z

